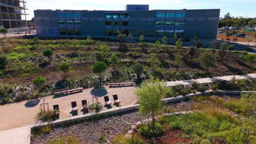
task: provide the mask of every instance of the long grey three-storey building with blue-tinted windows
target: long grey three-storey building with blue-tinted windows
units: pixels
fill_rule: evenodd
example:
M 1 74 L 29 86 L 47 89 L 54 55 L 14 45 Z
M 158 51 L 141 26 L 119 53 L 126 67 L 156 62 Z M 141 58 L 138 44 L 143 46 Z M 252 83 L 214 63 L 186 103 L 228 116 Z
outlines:
M 125 10 L 34 10 L 38 37 L 104 37 L 131 33 L 135 39 L 216 39 L 220 9 L 149 10 L 126 5 Z

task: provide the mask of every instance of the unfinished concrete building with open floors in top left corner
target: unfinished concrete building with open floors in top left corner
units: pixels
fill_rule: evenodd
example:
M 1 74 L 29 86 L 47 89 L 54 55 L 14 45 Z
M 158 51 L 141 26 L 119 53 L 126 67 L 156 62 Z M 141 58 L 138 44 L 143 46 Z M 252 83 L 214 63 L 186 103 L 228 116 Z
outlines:
M 27 27 L 26 0 L 0 0 L 0 28 Z

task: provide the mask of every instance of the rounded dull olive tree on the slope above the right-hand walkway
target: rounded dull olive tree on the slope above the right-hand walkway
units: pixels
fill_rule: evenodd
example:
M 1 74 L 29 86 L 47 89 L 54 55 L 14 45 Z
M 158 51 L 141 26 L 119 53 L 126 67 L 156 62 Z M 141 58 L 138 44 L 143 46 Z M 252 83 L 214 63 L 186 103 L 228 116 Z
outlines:
M 210 67 L 211 68 L 214 67 L 215 58 L 212 52 L 206 51 L 205 53 L 202 54 L 202 56 L 199 59 L 207 71 Z

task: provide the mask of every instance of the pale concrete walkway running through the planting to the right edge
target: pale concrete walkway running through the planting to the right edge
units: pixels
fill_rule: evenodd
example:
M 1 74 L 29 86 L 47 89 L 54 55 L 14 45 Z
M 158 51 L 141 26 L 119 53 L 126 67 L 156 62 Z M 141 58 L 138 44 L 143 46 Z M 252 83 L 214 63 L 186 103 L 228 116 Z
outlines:
M 256 78 L 256 73 L 247 74 L 247 75 L 219 76 L 219 77 L 203 78 L 203 79 L 195 79 L 195 80 L 168 81 L 168 82 L 166 82 L 166 86 L 171 87 L 171 86 L 176 86 L 176 85 L 190 85 L 194 81 L 196 81 L 197 83 L 211 83 L 211 82 L 214 82 L 217 80 L 230 81 L 234 76 L 235 76 L 236 80 L 253 79 L 253 78 Z

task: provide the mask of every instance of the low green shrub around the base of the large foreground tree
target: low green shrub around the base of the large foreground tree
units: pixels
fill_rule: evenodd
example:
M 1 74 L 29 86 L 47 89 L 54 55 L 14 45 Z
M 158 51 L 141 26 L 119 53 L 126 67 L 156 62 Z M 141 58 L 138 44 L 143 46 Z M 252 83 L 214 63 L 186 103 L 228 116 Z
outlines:
M 155 123 L 155 134 L 153 133 L 153 130 L 152 130 L 152 124 L 149 125 L 149 129 L 148 129 L 148 125 L 143 125 L 139 131 L 139 133 L 146 138 L 159 136 L 164 132 L 165 132 L 165 129 L 162 127 L 160 123 Z

